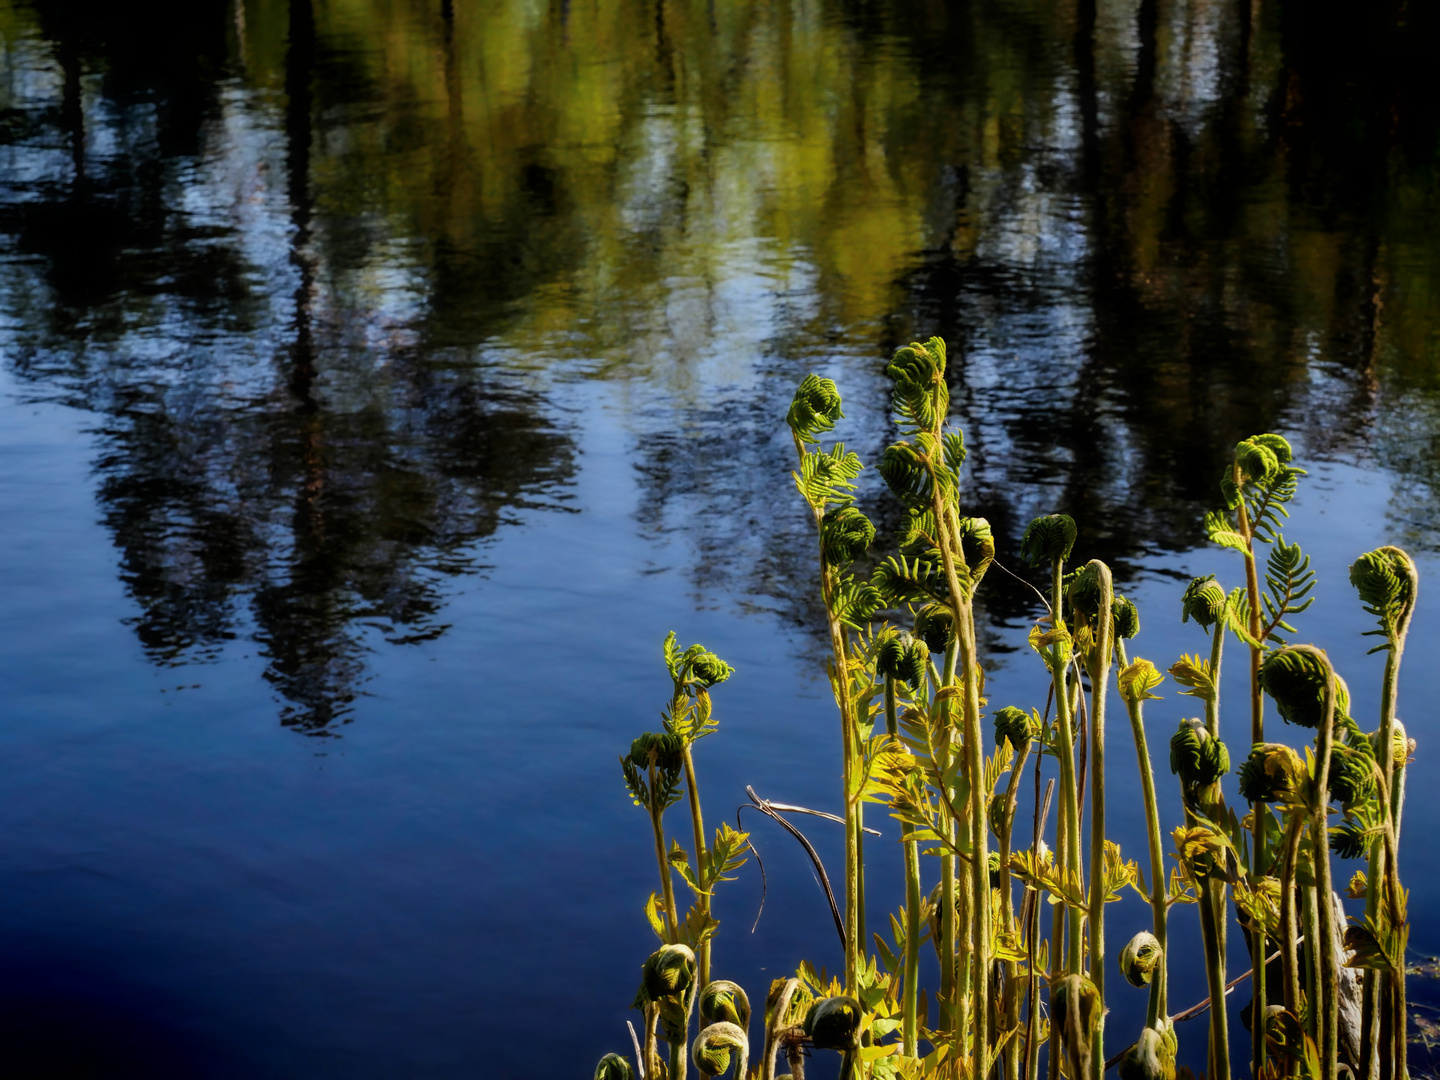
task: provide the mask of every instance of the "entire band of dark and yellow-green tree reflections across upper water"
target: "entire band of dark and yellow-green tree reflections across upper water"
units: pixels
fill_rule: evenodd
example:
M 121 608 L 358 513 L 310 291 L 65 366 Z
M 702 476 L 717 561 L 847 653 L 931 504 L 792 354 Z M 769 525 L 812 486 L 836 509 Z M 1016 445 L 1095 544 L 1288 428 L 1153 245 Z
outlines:
M 102 418 L 153 658 L 251 635 L 311 730 L 373 628 L 442 632 L 475 543 L 563 495 L 563 380 L 625 383 L 642 531 L 796 624 L 788 387 L 842 376 L 873 458 L 876 360 L 930 333 L 1002 549 L 1048 510 L 1122 576 L 1188 547 L 1269 428 L 1394 472 L 1433 546 L 1434 19 L 4 4 L 6 354 Z

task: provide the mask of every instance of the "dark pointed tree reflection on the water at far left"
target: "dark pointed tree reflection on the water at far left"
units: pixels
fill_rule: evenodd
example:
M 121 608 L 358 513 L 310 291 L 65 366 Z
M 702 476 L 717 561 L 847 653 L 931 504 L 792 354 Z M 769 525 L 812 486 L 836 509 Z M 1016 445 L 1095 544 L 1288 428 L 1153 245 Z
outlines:
M 413 268 L 325 249 L 307 6 L 282 95 L 216 78 L 223 7 L 177 7 L 180 65 L 101 14 L 7 37 L 6 351 L 101 416 L 147 654 L 251 636 L 282 720 L 328 733 L 376 639 L 444 632 L 477 543 L 559 505 L 573 446 L 531 389 L 428 341 Z

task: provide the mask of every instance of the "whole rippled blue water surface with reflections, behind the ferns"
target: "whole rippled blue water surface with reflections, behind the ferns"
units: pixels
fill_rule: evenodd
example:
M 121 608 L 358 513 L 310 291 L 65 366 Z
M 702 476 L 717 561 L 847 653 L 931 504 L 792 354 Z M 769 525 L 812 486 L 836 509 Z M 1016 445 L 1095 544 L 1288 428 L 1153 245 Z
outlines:
M 746 783 L 838 805 L 778 429 L 819 370 L 874 459 L 914 336 L 950 346 L 1002 560 L 1076 516 L 1162 667 L 1201 645 L 1184 580 L 1241 576 L 1202 546 L 1221 462 L 1290 436 L 1300 638 L 1372 716 L 1346 564 L 1400 543 L 1440 586 L 1437 53 L 1390 0 L 0 0 L 6 1054 L 562 1077 L 624 1048 L 654 865 L 615 756 L 658 723 L 660 641 L 737 668 L 711 819 Z M 1043 700 L 1032 616 L 989 576 L 996 704 Z M 1166 697 L 1161 737 L 1194 711 Z M 1123 729 L 1110 760 L 1140 855 Z M 755 864 L 720 894 L 717 973 L 763 995 L 840 955 L 798 851 L 744 824 L 769 893 L 753 935 Z M 1148 920 L 1132 897 L 1110 936 Z M 1119 1047 L 1143 995 L 1113 996 Z

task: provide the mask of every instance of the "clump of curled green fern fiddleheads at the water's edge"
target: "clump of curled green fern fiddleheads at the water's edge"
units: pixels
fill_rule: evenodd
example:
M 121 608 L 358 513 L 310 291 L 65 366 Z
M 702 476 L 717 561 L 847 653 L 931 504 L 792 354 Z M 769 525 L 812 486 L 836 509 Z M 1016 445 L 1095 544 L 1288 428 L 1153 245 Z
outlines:
M 645 914 L 661 948 L 645 960 L 634 1002 L 641 1014 L 634 1064 L 608 1054 L 596 1080 L 684 1080 L 691 1066 L 703 1076 L 778 1080 L 782 1057 L 789 1071 L 779 1080 L 802 1080 L 814 1050 L 840 1053 L 841 1080 L 1040 1080 L 1043 1073 L 1102 1080 L 1110 1068 L 1122 1080 L 1178 1080 L 1189 1070 L 1176 1066 L 1175 1022 L 1202 1011 L 1169 1011 L 1168 923 L 1172 909 L 1185 907 L 1200 922 L 1205 959 L 1204 1076 L 1403 1080 L 1408 923 L 1398 854 L 1414 740 L 1395 700 L 1418 596 L 1413 560 L 1387 546 L 1349 569 L 1375 619 L 1372 651 L 1385 654 L 1380 713 L 1362 724 L 1326 652 L 1300 644 L 1292 622 L 1315 588 L 1309 557 L 1282 531 L 1305 471 L 1282 436 L 1247 438 L 1220 477 L 1218 508 L 1205 516 L 1210 540 L 1238 556 L 1230 569 L 1244 583 L 1227 592 L 1210 575 L 1184 590 L 1179 615 L 1197 625 L 1195 652 L 1165 672 L 1132 657 L 1128 642 L 1140 628 L 1135 603 L 1115 592 L 1103 562 L 1073 560 L 1074 521 L 1048 514 L 1030 523 L 1021 544 L 1021 557 L 1048 585 L 1035 589 L 1040 613 L 1030 632 L 1048 694 L 1024 706 L 992 701 L 976 655 L 973 600 L 992 569 L 1014 572 L 995 562 L 989 524 L 962 511 L 966 451 L 946 423 L 945 369 L 937 337 L 897 350 L 886 369 L 900 438 L 877 468 L 906 520 L 899 553 L 868 579 L 851 569 L 876 540 L 852 500 L 864 465 L 844 444 L 821 444 L 842 419 L 835 383 L 806 376 L 786 415 L 792 477 L 815 523 L 840 720 L 838 890 L 780 814 L 798 808 L 756 802 L 815 861 L 844 946 L 842 976 L 802 963 L 773 981 L 753 1041 L 744 989 L 711 981 L 719 926 L 711 897 L 746 861 L 749 835 L 724 824 L 706 832 L 691 749 L 716 730 L 710 691 L 732 668 L 701 645 L 681 649 L 671 634 L 664 730 L 642 734 L 621 757 L 654 837 L 660 890 Z M 1231 662 L 1247 665 L 1250 678 L 1247 700 L 1227 698 L 1223 726 L 1227 641 Z M 1164 778 L 1156 779 L 1151 742 L 1164 733 L 1146 729 L 1143 711 L 1166 678 L 1195 698 L 1198 714 L 1168 736 L 1184 819 L 1162 824 Z M 1120 713 L 1145 801 L 1143 852 L 1122 852 L 1106 835 L 1106 736 L 1109 724 L 1125 723 Z M 1293 729 L 1313 737 L 1299 747 L 1279 740 Z M 1233 760 L 1223 733 L 1246 752 Z M 1041 796 L 1045 757 L 1058 775 Z M 1122 757 L 1109 768 L 1125 768 Z M 1017 819 L 1021 783 L 1035 792 L 1028 822 Z M 681 802 L 688 850 L 664 821 Z M 897 912 L 865 909 L 867 805 L 901 827 Z M 1057 818 L 1047 831 L 1051 805 Z M 1348 926 L 1332 855 L 1365 864 L 1344 884 L 1346 896 L 1365 901 L 1364 916 Z M 675 878 L 693 897 L 684 912 Z M 1106 940 L 1104 909 L 1126 890 L 1149 904 L 1152 926 L 1116 948 Z M 1225 968 L 1233 933 L 1251 958 L 1237 978 Z M 933 986 L 920 985 L 926 950 L 937 960 Z M 1112 966 L 1148 988 L 1138 1032 L 1106 1031 Z M 1263 1037 L 1250 1040 L 1248 1061 L 1237 1061 L 1224 999 L 1247 976 L 1254 989 L 1246 1027 Z

